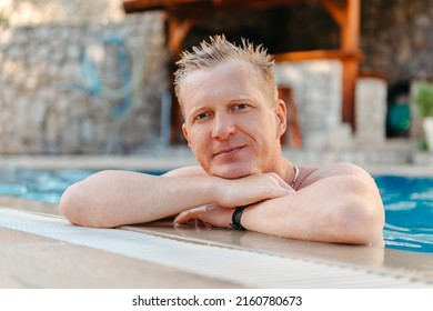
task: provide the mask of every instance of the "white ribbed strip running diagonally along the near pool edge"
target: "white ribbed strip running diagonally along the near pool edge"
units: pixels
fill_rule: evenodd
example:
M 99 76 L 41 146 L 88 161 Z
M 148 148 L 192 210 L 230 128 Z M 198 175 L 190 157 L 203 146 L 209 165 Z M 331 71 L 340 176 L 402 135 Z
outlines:
M 122 229 L 81 228 L 64 219 L 6 208 L 0 209 L 0 227 L 250 288 L 433 288 L 433 283 L 403 273 L 180 241 Z

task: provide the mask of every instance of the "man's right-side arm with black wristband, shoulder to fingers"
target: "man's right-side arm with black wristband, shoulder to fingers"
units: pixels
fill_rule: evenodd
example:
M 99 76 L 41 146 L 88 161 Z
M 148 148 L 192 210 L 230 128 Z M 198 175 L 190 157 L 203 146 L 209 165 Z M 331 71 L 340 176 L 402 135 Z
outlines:
M 231 214 L 232 210 L 208 207 L 183 212 L 177 223 L 195 217 L 229 227 Z M 242 215 L 242 225 L 251 231 L 350 244 L 383 245 L 383 204 L 373 179 L 349 163 L 319 169 L 296 192 L 255 203 Z

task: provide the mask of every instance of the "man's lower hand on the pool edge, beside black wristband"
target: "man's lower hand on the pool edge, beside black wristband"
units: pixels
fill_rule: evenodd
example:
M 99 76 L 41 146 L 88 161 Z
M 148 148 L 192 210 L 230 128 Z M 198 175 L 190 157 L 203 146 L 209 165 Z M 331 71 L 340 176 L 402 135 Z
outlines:
M 200 220 L 204 227 L 230 228 L 233 209 L 209 204 L 181 212 L 174 219 L 174 225 L 187 224 L 190 220 Z

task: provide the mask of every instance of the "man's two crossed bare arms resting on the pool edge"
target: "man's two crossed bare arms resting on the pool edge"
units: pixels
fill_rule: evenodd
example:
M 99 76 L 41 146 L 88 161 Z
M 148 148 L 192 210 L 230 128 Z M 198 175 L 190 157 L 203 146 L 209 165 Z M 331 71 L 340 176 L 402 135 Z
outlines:
M 177 215 L 177 224 L 199 219 L 230 227 L 233 208 L 244 210 L 248 230 L 284 238 L 383 244 L 383 204 L 373 179 L 362 169 L 333 164 L 312 172 L 298 191 L 276 174 L 224 180 L 199 168 L 153 177 L 103 171 L 70 187 L 60 209 L 72 222 L 117 227 Z

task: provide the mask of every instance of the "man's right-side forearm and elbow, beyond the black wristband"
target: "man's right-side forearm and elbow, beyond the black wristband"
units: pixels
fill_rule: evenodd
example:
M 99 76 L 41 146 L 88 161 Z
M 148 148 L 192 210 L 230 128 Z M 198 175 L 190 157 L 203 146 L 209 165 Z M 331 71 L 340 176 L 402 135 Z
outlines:
M 366 195 L 356 187 L 340 178 L 318 182 L 296 193 L 248 208 L 242 225 L 251 231 L 296 240 L 382 244 L 380 197 Z

